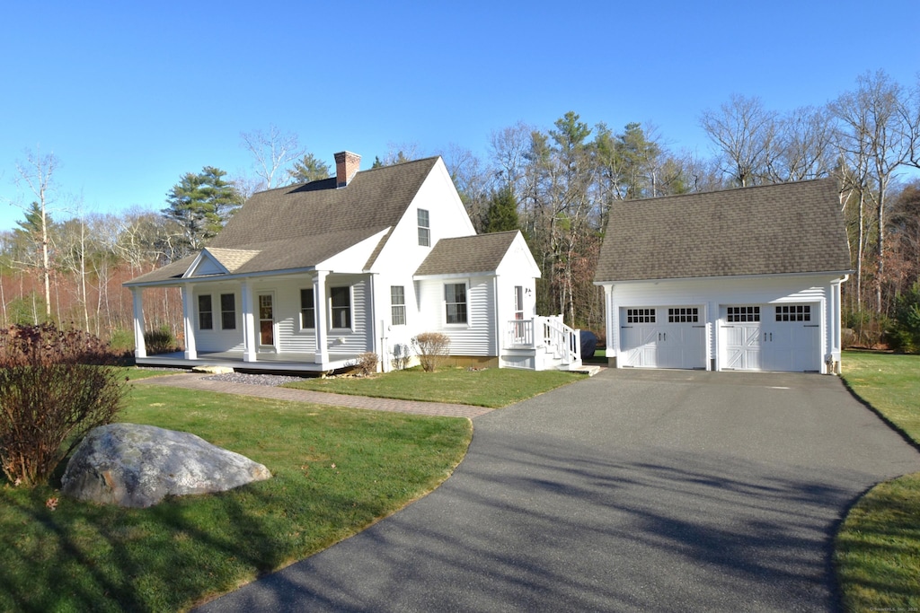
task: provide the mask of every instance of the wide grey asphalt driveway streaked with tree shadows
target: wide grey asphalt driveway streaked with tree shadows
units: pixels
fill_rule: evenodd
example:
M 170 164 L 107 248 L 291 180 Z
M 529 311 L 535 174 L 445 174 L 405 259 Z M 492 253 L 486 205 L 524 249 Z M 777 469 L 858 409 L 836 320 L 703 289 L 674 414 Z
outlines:
M 606 370 L 477 417 L 447 482 L 201 611 L 824 611 L 920 454 L 834 377 Z

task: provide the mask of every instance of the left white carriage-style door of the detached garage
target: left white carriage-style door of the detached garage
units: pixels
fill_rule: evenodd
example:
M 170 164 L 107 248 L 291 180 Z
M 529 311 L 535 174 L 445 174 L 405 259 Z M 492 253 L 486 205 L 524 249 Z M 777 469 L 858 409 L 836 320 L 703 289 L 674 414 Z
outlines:
M 705 369 L 706 323 L 700 307 L 620 310 L 622 364 L 649 369 Z

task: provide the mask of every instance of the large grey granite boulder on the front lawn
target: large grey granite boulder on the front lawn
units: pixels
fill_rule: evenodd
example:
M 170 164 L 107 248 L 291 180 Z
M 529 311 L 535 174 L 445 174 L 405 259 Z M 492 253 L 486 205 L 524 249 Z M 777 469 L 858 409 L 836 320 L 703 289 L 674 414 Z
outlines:
M 67 463 L 62 494 L 143 508 L 167 495 L 224 492 L 269 479 L 261 464 L 187 432 L 109 424 L 89 432 Z

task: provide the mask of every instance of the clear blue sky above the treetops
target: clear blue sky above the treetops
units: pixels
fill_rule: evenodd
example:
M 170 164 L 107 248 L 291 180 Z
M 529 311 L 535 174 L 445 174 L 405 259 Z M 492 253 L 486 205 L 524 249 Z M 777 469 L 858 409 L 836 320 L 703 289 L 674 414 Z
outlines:
M 62 163 L 54 206 L 97 212 L 162 209 L 204 165 L 249 172 L 240 132 L 271 124 L 364 168 L 401 143 L 485 159 L 493 131 L 569 110 L 707 153 L 699 115 L 733 93 L 788 111 L 866 71 L 914 85 L 918 23 L 916 0 L 3 2 L 0 231 L 36 147 Z

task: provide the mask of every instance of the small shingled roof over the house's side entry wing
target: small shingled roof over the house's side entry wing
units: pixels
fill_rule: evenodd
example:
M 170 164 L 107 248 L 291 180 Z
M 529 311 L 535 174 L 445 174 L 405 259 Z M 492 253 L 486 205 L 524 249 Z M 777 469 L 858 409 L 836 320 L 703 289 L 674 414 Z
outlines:
M 518 235 L 517 230 L 443 238 L 416 270 L 426 275 L 460 275 L 495 272 Z

